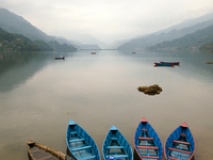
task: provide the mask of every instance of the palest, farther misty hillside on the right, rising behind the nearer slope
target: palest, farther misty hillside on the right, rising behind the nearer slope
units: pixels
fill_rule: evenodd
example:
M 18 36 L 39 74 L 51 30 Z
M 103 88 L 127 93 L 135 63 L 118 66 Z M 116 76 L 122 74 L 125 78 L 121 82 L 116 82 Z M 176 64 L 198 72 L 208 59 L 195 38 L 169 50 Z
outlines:
M 169 27 L 165 30 L 158 31 L 146 36 L 140 36 L 120 45 L 120 50 L 133 50 L 137 48 L 146 49 L 164 41 L 171 41 L 181 38 L 187 34 L 197 30 L 206 28 L 213 24 L 213 13 L 199 17 L 197 19 L 188 20 L 176 26 Z

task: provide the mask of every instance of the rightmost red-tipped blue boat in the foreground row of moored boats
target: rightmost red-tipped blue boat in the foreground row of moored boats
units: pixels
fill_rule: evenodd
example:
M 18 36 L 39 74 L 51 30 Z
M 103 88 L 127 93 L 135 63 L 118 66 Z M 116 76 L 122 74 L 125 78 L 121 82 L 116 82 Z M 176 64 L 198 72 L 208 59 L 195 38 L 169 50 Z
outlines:
M 186 122 L 177 127 L 167 138 L 164 155 L 167 160 L 193 160 L 195 142 Z

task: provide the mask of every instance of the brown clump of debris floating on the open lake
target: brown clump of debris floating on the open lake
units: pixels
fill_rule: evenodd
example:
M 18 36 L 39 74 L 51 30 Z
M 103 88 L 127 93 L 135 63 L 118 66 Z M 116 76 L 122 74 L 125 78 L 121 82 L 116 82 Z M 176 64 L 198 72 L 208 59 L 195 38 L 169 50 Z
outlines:
M 159 85 L 154 84 L 151 86 L 139 86 L 138 91 L 143 92 L 144 94 L 148 94 L 148 95 L 156 95 L 156 94 L 160 94 L 160 92 L 162 92 L 162 88 Z

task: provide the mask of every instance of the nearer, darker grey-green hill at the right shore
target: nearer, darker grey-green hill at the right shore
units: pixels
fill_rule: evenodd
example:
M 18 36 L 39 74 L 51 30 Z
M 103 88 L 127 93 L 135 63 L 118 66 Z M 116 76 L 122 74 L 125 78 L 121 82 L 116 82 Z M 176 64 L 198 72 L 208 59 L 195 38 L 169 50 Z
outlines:
M 150 47 L 155 50 L 168 49 L 208 49 L 213 44 L 213 25 L 194 33 L 187 34 L 179 39 L 166 41 Z M 210 48 L 211 48 L 210 47 Z M 212 48 L 211 48 L 212 49 Z

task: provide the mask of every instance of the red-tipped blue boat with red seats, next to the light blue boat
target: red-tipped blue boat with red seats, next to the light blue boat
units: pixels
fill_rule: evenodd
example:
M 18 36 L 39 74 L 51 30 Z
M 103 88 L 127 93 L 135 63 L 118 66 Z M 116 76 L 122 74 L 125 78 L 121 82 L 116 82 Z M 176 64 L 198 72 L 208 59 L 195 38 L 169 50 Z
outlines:
M 142 118 L 134 135 L 134 150 L 141 160 L 162 160 L 163 147 L 158 134 L 146 120 Z

